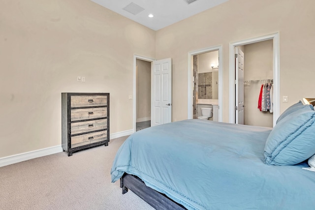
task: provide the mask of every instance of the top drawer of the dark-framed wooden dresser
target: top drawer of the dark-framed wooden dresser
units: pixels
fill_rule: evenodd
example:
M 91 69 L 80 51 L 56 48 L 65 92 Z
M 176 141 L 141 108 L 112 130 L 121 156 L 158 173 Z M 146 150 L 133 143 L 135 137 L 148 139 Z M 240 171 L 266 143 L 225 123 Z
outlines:
M 72 95 L 71 107 L 105 106 L 106 95 Z

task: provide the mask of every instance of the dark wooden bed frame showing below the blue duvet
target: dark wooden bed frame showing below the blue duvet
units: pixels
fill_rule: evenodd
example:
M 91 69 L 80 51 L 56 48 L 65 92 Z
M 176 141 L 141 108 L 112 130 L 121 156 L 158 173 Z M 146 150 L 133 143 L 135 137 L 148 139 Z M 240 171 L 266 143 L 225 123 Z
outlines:
M 157 210 L 187 210 L 184 206 L 176 203 L 166 195 L 146 186 L 140 178 L 134 175 L 125 173 L 123 177 L 120 178 L 120 187 L 122 188 L 123 194 L 130 189 Z

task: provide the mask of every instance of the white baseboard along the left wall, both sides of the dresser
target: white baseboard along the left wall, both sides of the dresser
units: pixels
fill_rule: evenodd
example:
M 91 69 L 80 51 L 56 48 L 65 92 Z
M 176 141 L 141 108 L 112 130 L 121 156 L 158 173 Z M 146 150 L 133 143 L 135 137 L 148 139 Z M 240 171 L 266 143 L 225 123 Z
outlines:
M 116 139 L 119 137 L 131 135 L 132 133 L 133 133 L 133 129 L 118 132 L 118 133 L 112 133 L 110 134 L 109 137 L 110 139 Z M 50 154 L 55 154 L 62 151 L 63 151 L 63 148 L 61 147 L 61 145 L 58 145 L 58 146 L 54 146 L 50 148 L 44 148 L 41 150 L 34 150 L 34 151 L 14 154 L 14 155 L 6 156 L 6 157 L 0 157 L 0 167 L 22 162 L 25 160 L 30 160 L 36 157 L 42 157 L 42 156 L 46 156 Z

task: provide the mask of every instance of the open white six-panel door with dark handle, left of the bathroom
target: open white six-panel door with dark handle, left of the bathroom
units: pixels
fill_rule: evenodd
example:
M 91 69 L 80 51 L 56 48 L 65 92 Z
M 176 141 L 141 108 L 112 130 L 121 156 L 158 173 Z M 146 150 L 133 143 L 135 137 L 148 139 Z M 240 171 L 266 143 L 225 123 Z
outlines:
M 151 126 L 172 121 L 172 59 L 152 62 Z

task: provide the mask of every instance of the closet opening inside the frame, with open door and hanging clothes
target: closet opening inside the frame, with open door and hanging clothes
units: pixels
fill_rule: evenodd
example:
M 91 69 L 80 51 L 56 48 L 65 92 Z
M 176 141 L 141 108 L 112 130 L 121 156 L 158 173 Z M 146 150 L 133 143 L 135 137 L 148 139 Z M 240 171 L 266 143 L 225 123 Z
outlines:
M 235 47 L 235 54 L 238 54 L 235 60 L 239 61 L 235 62 L 235 75 L 238 78 L 235 121 L 238 124 L 273 127 L 273 40 Z M 241 60 L 244 60 L 243 66 L 239 65 Z

